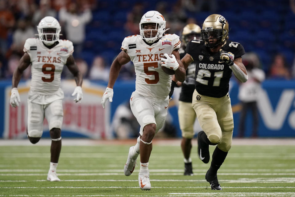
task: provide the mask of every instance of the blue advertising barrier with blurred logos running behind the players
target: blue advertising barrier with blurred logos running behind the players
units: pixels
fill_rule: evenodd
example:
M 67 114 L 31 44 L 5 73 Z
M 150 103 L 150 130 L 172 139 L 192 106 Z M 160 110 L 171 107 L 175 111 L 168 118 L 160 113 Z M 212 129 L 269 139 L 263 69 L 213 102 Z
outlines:
M 11 82 L 0 82 L 0 137 L 5 139 L 26 138 L 27 125 L 27 95 L 29 81 L 21 82 L 18 91 L 21 97 L 20 106 L 10 106 Z M 106 88 L 106 83 L 83 81 L 83 101 L 75 103 L 71 96 L 76 86 L 74 80 L 62 80 L 62 89 L 65 93 L 63 99 L 64 118 L 62 137 L 84 137 L 92 139 L 114 138 L 111 129 L 112 118 L 116 108 L 129 101 L 135 90 L 135 82 L 116 82 L 114 86 L 113 102 L 106 102 L 105 109 L 100 101 Z M 169 104 L 171 123 L 177 129 L 175 137 L 181 137 L 179 129 L 177 103 L 179 88 L 175 88 Z M 238 100 L 238 84 L 231 83 L 230 98 L 234 113 L 234 137 L 238 134 L 239 112 L 241 106 Z M 295 82 L 266 80 L 262 83 L 262 91 L 258 99 L 259 110 L 259 137 L 295 137 Z M 246 129 L 245 137 L 251 135 L 252 117 L 249 112 L 244 120 Z M 196 123 L 195 130 L 200 127 Z M 43 137 L 49 137 L 48 123 L 45 120 Z

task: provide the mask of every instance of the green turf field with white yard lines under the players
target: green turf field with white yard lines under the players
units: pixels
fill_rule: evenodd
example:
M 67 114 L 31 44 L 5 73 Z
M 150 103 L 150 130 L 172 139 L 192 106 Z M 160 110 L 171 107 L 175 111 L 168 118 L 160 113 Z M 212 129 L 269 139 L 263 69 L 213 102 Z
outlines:
M 180 147 L 154 145 L 150 191 L 138 186 L 139 167 L 124 176 L 127 145 L 63 146 L 57 168 L 61 182 L 46 181 L 49 145 L 0 149 L 0 196 L 295 196 L 295 146 L 233 146 L 218 171 L 222 191 L 210 189 L 209 164 L 197 157 L 196 146 L 194 176 L 183 176 Z

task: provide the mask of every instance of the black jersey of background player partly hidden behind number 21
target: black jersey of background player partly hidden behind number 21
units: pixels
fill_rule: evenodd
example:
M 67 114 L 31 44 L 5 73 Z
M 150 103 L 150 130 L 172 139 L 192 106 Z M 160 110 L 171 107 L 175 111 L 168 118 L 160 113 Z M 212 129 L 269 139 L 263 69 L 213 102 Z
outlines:
M 185 52 L 185 50 L 181 48 L 179 49 L 179 54 L 180 54 L 180 59 L 182 59 L 187 53 Z M 179 95 L 180 101 L 187 102 L 187 103 L 192 102 L 192 96 L 195 91 L 195 70 L 196 70 L 195 62 L 191 62 L 186 70 L 186 79 L 181 86 L 181 92 Z

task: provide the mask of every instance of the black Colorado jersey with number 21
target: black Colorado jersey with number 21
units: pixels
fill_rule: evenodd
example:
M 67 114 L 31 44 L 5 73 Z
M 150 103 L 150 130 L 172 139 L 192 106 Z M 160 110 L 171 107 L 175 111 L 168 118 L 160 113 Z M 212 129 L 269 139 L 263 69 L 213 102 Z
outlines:
M 232 60 L 245 54 L 244 47 L 231 40 L 227 40 L 221 49 L 227 51 Z M 191 40 L 186 52 L 196 63 L 195 88 L 197 92 L 215 98 L 225 96 L 229 90 L 232 70 L 220 59 L 220 52 L 212 53 L 201 40 Z

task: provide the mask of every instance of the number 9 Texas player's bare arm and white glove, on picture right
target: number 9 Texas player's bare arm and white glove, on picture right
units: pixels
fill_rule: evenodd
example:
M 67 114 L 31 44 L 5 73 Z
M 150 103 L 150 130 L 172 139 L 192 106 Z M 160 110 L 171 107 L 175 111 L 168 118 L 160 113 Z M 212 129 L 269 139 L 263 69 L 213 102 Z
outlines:
M 74 101 L 77 103 L 78 101 L 80 101 L 83 99 L 83 92 L 82 92 L 82 81 L 83 81 L 83 75 L 80 72 L 75 59 L 73 57 L 73 55 L 70 55 L 67 59 L 67 62 L 65 63 L 65 65 L 69 68 L 69 71 L 74 75 L 74 79 L 76 81 L 77 87 L 75 88 L 72 96 L 76 96 L 76 98 L 74 99 Z

